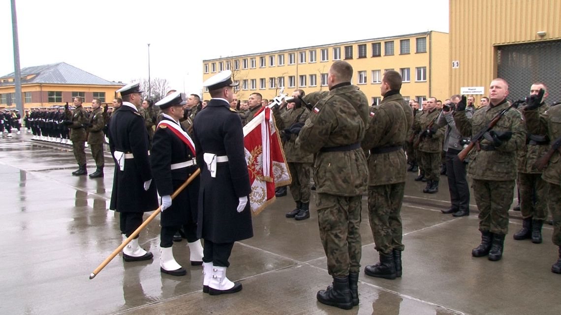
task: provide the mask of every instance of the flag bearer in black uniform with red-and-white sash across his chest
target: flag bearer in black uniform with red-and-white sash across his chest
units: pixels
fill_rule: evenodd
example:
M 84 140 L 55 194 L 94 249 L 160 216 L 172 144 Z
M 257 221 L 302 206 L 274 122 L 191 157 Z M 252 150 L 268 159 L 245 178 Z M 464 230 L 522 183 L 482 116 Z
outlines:
M 199 177 L 196 177 L 173 200 L 171 194 L 197 169 L 195 143 L 180 124 L 183 117 L 180 92 L 174 92 L 156 103 L 162 109 L 162 121 L 154 132 L 150 164 L 154 183 L 162 196 L 160 225 L 160 271 L 174 276 L 186 274 L 173 258 L 173 235 L 183 228 L 191 252 L 191 265 L 203 264 L 203 246 L 197 238 L 197 202 Z M 164 211 L 165 210 L 165 211 Z

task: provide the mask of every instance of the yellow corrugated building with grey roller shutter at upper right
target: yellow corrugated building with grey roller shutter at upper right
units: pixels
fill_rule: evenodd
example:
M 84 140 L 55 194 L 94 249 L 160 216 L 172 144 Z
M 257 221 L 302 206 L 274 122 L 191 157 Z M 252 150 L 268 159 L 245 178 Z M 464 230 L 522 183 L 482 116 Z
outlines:
M 450 92 L 488 95 L 495 77 L 509 83 L 509 100 L 533 82 L 561 100 L 561 0 L 450 0 Z M 482 89 L 482 91 L 481 91 Z

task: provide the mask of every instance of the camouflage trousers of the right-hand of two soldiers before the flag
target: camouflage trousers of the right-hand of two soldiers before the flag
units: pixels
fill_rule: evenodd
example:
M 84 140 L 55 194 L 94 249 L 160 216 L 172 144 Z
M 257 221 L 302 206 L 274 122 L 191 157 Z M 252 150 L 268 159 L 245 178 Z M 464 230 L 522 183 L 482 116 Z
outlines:
M 403 251 L 401 205 L 404 189 L 405 183 L 368 187 L 368 217 L 378 252 Z

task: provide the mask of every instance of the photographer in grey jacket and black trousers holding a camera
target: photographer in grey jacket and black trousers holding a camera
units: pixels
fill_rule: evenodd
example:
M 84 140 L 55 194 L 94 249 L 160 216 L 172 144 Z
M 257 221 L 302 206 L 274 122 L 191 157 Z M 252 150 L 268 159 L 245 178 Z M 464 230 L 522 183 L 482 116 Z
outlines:
M 456 128 L 453 113 L 457 107 L 466 108 L 466 97 L 458 94 L 450 97 L 450 103 L 444 104 L 442 113 L 438 117 L 437 124 L 440 127 L 447 126 L 444 133 L 443 150 L 446 151 L 446 175 L 448 177 L 448 189 L 450 191 L 450 208 L 442 210 L 443 214 L 453 216 L 470 215 L 470 188 L 466 180 L 466 164 L 458 158 L 458 153 L 470 138 L 462 137 Z M 471 119 L 473 110 L 466 108 L 466 117 Z

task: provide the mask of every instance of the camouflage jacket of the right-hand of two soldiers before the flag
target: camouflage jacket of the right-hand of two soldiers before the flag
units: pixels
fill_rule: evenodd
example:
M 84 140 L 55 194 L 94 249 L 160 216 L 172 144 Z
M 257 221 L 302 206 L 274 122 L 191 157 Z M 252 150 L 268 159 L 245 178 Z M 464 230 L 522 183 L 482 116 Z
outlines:
M 369 186 L 404 183 L 407 175 L 407 158 L 403 145 L 413 124 L 413 110 L 401 94 L 384 97 L 378 106 L 370 107 L 370 118 L 362 148 L 369 149 Z M 389 147 L 402 147 L 391 152 L 376 153 Z

